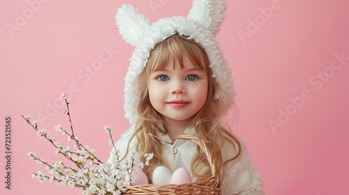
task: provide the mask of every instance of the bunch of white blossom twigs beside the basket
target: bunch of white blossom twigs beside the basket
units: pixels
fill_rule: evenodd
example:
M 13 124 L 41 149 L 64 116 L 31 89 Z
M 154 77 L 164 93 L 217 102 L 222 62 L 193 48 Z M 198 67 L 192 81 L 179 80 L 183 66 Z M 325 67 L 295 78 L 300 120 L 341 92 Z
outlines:
M 140 162 L 140 156 L 136 151 L 124 156 L 120 159 L 120 152 L 117 150 L 114 141 L 112 140 L 112 127 L 106 125 L 104 127 L 105 132 L 109 134 L 110 145 L 114 148 L 116 153 L 114 164 L 103 164 L 96 155 L 94 155 L 94 149 L 89 148 L 88 145 L 83 146 L 80 140 L 75 137 L 73 132 L 73 125 L 71 123 L 70 110 L 65 93 L 60 97 L 61 100 L 66 101 L 66 113 L 69 116 L 71 134 L 69 134 L 64 127 L 57 125 L 55 130 L 61 134 L 68 135 L 68 141 L 75 141 L 74 147 L 76 151 L 70 150 L 69 146 L 62 147 L 54 137 L 50 136 L 49 132 L 44 129 L 38 129 L 38 121 L 31 123 L 29 116 L 22 116 L 24 120 L 36 130 L 38 137 L 45 137 L 56 148 L 57 155 L 63 155 L 70 162 L 73 162 L 77 168 L 65 165 L 64 162 L 57 162 L 48 164 L 40 158 L 36 157 L 34 153 L 29 152 L 28 155 L 31 159 L 36 160 L 38 164 L 46 165 L 46 169 L 51 176 L 46 176 L 41 171 L 33 173 L 32 177 L 37 178 L 40 182 L 50 179 L 50 182 L 55 181 L 61 185 L 68 187 L 82 188 L 82 194 L 122 194 L 126 189 L 125 185 L 131 185 L 133 182 L 136 171 L 142 170 L 144 165 L 149 165 L 149 160 L 153 157 L 152 153 L 145 154 L 145 164 Z M 89 164 L 91 166 L 89 166 Z M 137 169 L 138 168 L 138 169 Z

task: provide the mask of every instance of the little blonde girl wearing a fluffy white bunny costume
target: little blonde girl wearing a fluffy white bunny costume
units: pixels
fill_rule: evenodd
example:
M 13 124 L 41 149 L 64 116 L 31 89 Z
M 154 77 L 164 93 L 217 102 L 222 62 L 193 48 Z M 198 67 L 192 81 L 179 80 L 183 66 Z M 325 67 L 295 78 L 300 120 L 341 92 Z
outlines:
M 221 123 L 235 106 L 231 72 L 216 42 L 225 1 L 194 0 L 187 17 L 150 24 L 132 6 L 117 13 L 119 32 L 135 46 L 125 78 L 125 111 L 131 128 L 117 141 L 121 155 L 154 153 L 144 173 L 184 167 L 192 181 L 211 178 L 211 167 L 189 134 L 207 143 L 220 170 L 222 194 L 265 194 L 242 141 Z M 108 162 L 114 163 L 112 150 Z M 143 162 L 145 159 L 141 159 Z

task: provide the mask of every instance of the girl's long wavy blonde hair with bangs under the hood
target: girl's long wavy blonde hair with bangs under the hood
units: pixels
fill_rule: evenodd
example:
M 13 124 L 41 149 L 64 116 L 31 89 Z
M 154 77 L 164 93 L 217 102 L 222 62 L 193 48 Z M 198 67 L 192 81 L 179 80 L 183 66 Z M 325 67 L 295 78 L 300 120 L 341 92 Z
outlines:
M 156 137 L 156 132 L 168 134 L 168 130 L 161 118 L 161 114 L 151 106 L 148 94 L 149 75 L 153 71 L 165 68 L 170 59 L 178 61 L 181 68 L 184 68 L 184 54 L 189 57 L 191 63 L 193 63 L 196 68 L 200 68 L 207 72 L 207 79 L 209 80 L 207 100 L 202 109 L 195 114 L 195 117 L 188 127 L 194 127 L 195 130 L 200 130 L 195 131 L 195 136 L 198 137 L 200 141 L 209 143 L 207 144 L 208 150 L 214 159 L 216 170 L 221 170 L 222 166 L 239 157 L 241 153 L 242 147 L 239 140 L 230 133 L 228 125 L 223 125 L 221 123 L 221 118 L 225 116 L 228 109 L 230 109 L 230 105 L 234 105 L 233 98 L 227 97 L 221 85 L 212 77 L 211 68 L 209 68 L 209 58 L 205 49 L 194 40 L 189 40 L 185 36 L 174 34 L 174 36 L 170 36 L 162 42 L 159 42 L 154 47 L 149 56 L 146 68 L 142 70 L 140 77 L 134 84 L 138 88 L 140 102 L 138 104 L 139 117 L 135 125 L 135 134 L 133 134 L 131 140 L 134 138 L 137 139 L 136 149 L 138 153 L 140 153 L 143 162 L 145 160 L 143 157 L 145 153 L 154 153 L 154 157 L 151 159 L 149 166 L 145 166 L 143 169 L 149 181 L 151 181 L 151 173 L 153 173 L 156 167 L 168 165 L 168 162 L 165 162 L 163 158 L 161 139 Z M 218 98 L 215 98 L 215 96 Z M 163 124 L 163 128 L 158 126 L 159 123 Z M 237 155 L 227 162 L 222 162 L 221 148 L 225 141 L 231 143 Z M 197 181 L 206 180 L 212 176 L 207 158 L 199 147 L 191 162 L 191 173 Z

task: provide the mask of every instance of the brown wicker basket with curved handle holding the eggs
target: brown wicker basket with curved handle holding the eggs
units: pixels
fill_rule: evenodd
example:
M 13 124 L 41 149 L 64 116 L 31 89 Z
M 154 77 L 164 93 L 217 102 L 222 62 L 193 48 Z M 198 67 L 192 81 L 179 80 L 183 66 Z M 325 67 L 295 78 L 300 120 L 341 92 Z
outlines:
M 124 194 L 221 194 L 221 176 L 213 162 L 211 154 L 205 143 L 198 141 L 198 138 L 191 135 L 181 135 L 177 139 L 194 141 L 202 148 L 209 165 L 211 166 L 212 177 L 202 182 L 191 182 L 180 185 L 135 185 L 126 187 Z

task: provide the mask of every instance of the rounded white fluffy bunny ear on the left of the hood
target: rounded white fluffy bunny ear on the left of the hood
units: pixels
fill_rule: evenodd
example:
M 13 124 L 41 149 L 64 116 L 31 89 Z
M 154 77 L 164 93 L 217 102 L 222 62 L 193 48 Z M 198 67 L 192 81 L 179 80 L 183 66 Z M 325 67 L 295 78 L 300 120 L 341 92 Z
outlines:
M 142 33 L 150 26 L 150 21 L 131 5 L 123 5 L 117 10 L 115 16 L 119 33 L 127 43 L 133 47 L 138 44 Z

